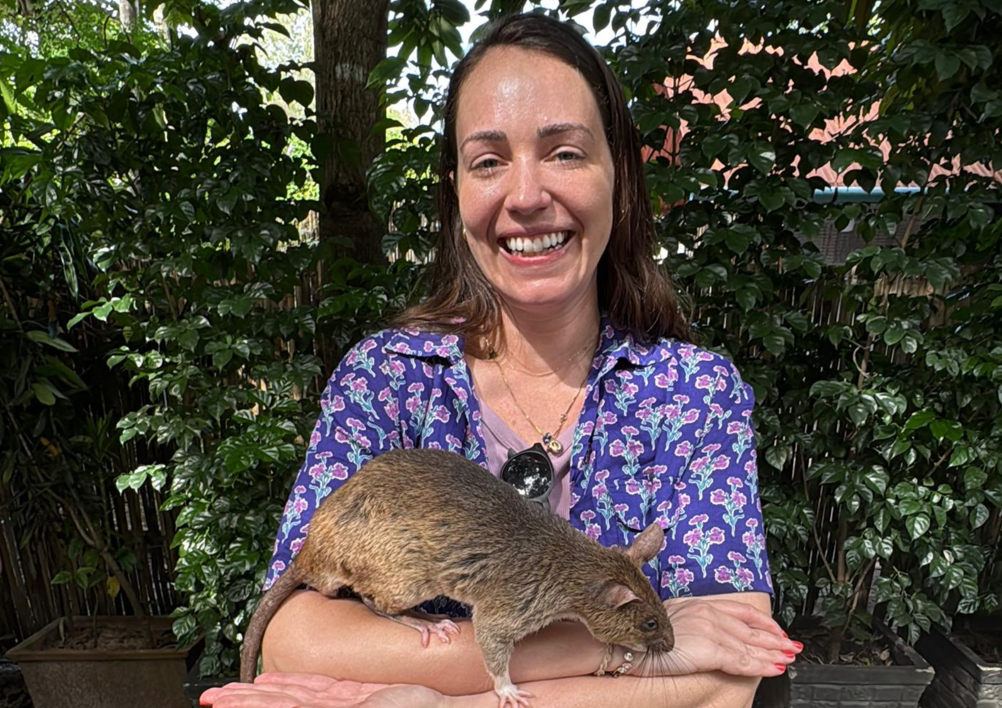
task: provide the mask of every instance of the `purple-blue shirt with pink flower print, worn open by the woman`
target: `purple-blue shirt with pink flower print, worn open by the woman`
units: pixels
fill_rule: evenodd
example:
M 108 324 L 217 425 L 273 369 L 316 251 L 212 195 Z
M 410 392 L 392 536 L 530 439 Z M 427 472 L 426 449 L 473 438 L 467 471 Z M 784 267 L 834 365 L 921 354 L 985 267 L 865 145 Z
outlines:
M 628 545 L 660 524 L 665 547 L 644 572 L 662 599 L 772 593 L 753 406 L 726 359 L 672 339 L 641 346 L 603 322 L 574 431 L 570 523 L 605 546 Z M 461 336 L 386 329 L 341 362 L 286 504 L 266 589 L 303 545 L 321 502 L 394 448 L 448 450 L 487 467 Z

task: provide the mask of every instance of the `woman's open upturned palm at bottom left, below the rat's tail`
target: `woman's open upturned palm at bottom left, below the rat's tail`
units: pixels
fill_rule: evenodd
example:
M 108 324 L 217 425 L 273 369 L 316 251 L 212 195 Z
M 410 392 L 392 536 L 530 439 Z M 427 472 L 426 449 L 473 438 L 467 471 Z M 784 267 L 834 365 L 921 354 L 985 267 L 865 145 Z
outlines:
M 201 694 L 212 708 L 444 708 L 450 699 L 424 686 L 338 681 L 318 674 L 266 673 Z

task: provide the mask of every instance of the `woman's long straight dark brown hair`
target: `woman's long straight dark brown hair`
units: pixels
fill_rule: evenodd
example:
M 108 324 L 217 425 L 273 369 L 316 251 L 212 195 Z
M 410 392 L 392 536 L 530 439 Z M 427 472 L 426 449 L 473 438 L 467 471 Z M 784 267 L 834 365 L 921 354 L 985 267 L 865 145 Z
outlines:
M 687 340 L 668 276 L 654 261 L 654 220 L 640 160 L 640 143 L 618 81 L 601 55 L 570 25 L 540 14 L 504 17 L 488 25 L 456 65 L 445 102 L 445 134 L 439 160 L 441 231 L 432 266 L 430 295 L 395 323 L 419 329 L 486 336 L 496 341 L 501 303 L 463 238 L 459 200 L 450 174 L 457 168 L 456 110 L 470 71 L 494 47 L 545 52 L 580 72 L 602 116 L 615 168 L 612 233 L 598 261 L 598 307 L 612 324 L 651 342 L 662 336 Z

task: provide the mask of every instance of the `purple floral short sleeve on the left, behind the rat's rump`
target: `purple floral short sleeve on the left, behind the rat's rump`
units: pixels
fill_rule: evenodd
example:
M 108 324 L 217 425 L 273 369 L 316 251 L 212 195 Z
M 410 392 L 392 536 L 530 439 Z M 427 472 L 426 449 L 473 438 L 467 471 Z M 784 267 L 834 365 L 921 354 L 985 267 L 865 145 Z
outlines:
M 266 590 L 303 546 L 310 519 L 321 503 L 365 462 L 400 447 L 400 412 L 385 359 L 377 338 L 363 339 L 331 375 L 306 461 L 279 524 Z

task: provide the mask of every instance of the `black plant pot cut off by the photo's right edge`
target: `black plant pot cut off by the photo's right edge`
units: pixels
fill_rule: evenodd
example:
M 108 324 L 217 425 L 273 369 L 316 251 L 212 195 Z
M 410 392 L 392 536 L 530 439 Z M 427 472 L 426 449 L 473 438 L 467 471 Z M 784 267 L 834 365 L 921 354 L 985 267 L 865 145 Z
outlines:
M 1002 639 L 1002 621 L 979 622 L 977 629 Z M 1002 708 L 1002 664 L 982 659 L 938 627 L 924 634 L 915 648 L 936 669 L 922 696 L 923 708 Z

